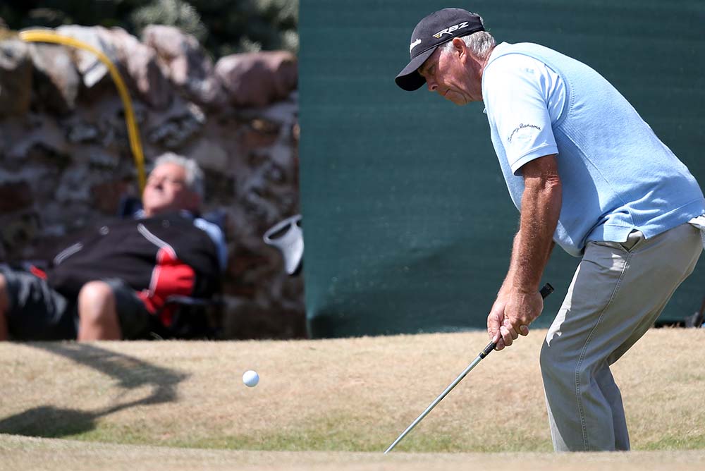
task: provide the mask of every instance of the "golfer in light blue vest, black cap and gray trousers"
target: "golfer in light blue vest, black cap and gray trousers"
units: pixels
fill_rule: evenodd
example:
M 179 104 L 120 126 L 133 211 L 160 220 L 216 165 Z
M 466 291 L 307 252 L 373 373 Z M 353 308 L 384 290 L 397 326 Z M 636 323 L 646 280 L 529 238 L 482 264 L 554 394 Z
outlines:
M 687 167 L 599 73 L 538 44 L 496 44 L 460 8 L 415 27 L 403 90 L 484 102 L 520 228 L 487 317 L 497 350 L 543 309 L 554 244 L 582 260 L 541 348 L 556 451 L 630 448 L 610 372 L 693 271 L 705 201 Z M 697 219 L 696 219 L 697 218 Z M 692 224 L 689 224 L 692 221 Z M 508 380 L 511 372 L 502 372 Z

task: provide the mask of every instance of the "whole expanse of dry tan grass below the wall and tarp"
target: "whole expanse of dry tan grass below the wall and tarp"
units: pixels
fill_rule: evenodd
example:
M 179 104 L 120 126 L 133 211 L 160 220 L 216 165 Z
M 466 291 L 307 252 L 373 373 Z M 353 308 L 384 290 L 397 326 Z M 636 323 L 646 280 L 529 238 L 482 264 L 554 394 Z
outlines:
M 535 459 L 537 466 L 563 459 L 549 453 L 538 365 L 544 335 L 532 331 L 480 362 L 390 453 L 412 458 L 393 463 L 435 469 L 440 458 L 427 453 L 477 465 L 482 453 Z M 274 466 L 282 456 L 298 457 L 288 464 L 302 469 L 326 460 L 338 460 L 336 468 L 386 469 L 391 462 L 378 455 L 486 341 L 482 332 L 466 332 L 322 341 L 3 343 L 0 468 L 42 469 L 30 457 L 56 455 L 66 461 L 54 468 L 82 469 L 72 456 L 85 452 L 99 461 L 119 450 L 125 457 L 202 454 L 210 469 L 223 456 L 258 469 L 279 469 Z M 615 469 L 637 469 L 631 466 L 641 460 L 639 470 L 658 469 L 648 466 L 680 463 L 680 456 L 689 457 L 685 467 L 668 469 L 705 469 L 704 341 L 701 329 L 652 329 L 613 366 L 632 448 L 644 451 L 614 458 L 621 463 Z M 247 369 L 259 372 L 255 388 L 242 383 Z M 111 448 L 116 444 L 124 447 Z M 288 451 L 297 453 L 281 454 Z M 560 469 L 588 469 L 561 463 Z M 693 463 L 698 466 L 688 467 Z M 120 466 L 109 469 L 130 467 Z

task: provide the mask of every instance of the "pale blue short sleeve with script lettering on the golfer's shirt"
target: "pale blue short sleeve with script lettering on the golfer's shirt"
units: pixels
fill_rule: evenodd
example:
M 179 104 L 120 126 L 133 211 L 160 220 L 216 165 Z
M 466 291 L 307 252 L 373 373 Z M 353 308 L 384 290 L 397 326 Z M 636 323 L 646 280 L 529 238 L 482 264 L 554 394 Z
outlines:
M 508 54 L 493 61 L 484 74 L 487 118 L 505 150 L 514 175 L 524 164 L 558 154 L 548 113 L 550 78 L 526 56 Z

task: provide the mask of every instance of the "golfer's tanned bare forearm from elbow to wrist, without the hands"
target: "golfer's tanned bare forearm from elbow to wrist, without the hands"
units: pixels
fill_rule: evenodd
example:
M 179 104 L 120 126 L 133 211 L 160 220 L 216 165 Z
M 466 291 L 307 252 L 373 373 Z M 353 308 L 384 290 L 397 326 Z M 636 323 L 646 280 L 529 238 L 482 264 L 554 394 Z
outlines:
M 539 289 L 541 275 L 553 248 L 560 204 L 559 180 L 527 182 L 510 267 L 512 290 L 534 293 Z

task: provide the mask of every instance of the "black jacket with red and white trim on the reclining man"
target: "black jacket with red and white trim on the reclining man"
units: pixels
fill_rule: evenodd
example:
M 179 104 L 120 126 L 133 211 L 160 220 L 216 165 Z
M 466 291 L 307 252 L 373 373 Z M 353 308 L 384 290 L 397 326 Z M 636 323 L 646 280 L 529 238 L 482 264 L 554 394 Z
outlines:
M 59 252 L 47 270 L 49 284 L 69 297 L 88 281 L 122 279 L 143 294 L 150 310 L 160 307 L 174 289 L 171 294 L 207 298 L 218 289 L 219 276 L 212 239 L 181 213 L 92 228 Z

